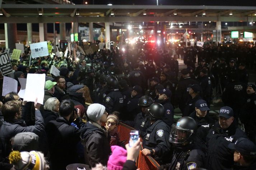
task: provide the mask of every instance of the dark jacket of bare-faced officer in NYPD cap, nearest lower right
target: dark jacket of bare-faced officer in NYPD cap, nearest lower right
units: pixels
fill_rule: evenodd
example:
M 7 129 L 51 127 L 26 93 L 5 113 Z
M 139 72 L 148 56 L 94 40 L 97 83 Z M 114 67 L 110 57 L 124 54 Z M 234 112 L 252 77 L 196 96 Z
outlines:
M 219 122 L 210 129 L 206 141 L 209 150 L 209 170 L 231 170 L 234 164 L 233 151 L 228 144 L 234 143 L 238 138 L 247 138 L 245 132 L 233 122 L 227 129 L 223 130 Z

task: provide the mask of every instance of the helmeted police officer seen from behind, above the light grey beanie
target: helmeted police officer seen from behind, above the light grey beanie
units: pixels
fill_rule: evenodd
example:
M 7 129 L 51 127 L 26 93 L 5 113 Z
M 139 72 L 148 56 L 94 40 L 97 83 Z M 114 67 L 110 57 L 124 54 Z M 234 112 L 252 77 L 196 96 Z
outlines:
M 106 112 L 112 114 L 113 111 L 118 111 L 122 116 L 122 107 L 124 103 L 124 98 L 119 91 L 119 83 L 115 76 L 110 75 L 106 79 L 108 86 L 108 91 L 106 92 L 106 97 L 104 98 L 103 105 L 106 107 Z

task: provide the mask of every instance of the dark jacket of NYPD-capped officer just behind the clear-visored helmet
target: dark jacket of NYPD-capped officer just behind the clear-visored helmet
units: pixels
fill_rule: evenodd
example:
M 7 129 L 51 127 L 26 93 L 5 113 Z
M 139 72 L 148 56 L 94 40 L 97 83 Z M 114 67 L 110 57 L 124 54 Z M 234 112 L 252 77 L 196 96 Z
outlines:
M 196 135 L 199 137 L 204 143 L 206 143 L 206 136 L 214 124 L 214 120 L 206 114 L 205 117 L 197 117 L 196 111 L 192 112 L 189 117 L 192 117 L 197 124 Z

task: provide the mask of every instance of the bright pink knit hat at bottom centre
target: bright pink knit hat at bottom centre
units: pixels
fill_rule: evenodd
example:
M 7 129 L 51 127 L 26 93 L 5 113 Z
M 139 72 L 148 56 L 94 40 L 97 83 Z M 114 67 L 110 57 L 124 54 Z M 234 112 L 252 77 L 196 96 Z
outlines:
M 122 170 L 127 157 L 127 151 L 120 146 L 111 146 L 112 155 L 108 159 L 108 170 Z

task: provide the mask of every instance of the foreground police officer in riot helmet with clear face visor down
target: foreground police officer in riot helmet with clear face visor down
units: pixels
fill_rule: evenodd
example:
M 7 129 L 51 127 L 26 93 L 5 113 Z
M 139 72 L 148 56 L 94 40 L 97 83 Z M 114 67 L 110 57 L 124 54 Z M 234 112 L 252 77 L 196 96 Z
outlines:
M 205 167 L 205 150 L 195 142 L 196 122 L 182 117 L 172 125 L 169 141 L 173 144 L 172 160 L 162 168 L 169 170 L 192 170 Z

